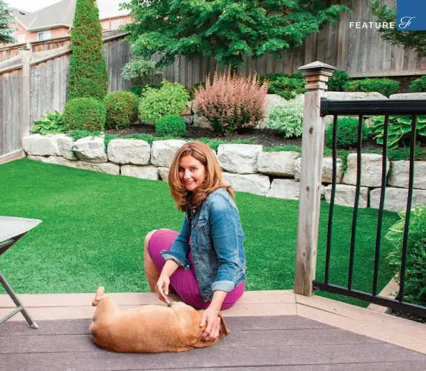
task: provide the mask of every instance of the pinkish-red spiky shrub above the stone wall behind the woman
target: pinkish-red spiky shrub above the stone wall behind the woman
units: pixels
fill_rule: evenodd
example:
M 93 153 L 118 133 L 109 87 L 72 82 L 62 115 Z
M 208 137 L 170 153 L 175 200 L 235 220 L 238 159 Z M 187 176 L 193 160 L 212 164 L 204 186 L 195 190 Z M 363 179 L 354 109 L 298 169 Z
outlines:
M 265 116 L 267 90 L 267 81 L 261 85 L 256 74 L 251 79 L 229 70 L 218 75 L 216 70 L 213 84 L 207 75 L 205 88 L 194 90 L 194 111 L 221 134 L 252 128 Z

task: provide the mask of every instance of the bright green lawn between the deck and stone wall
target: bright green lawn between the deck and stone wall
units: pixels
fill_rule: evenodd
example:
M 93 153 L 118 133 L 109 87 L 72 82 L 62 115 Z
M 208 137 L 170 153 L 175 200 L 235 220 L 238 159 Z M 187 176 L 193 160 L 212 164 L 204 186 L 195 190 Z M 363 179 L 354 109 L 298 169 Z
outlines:
M 148 292 L 143 239 L 153 229 L 179 230 L 166 182 L 84 171 L 30 159 L 0 165 L 0 214 L 42 219 L 0 257 L 0 271 L 17 293 Z M 246 235 L 246 290 L 292 289 L 298 201 L 236 192 Z M 322 202 L 317 278 L 324 276 L 329 204 Z M 351 207 L 333 216 L 330 282 L 345 285 Z M 385 212 L 384 235 L 397 221 Z M 354 289 L 371 290 L 377 210 L 358 210 Z M 381 253 L 379 287 L 393 276 Z M 4 293 L 4 292 L 1 292 Z M 349 301 L 345 299 L 345 301 Z

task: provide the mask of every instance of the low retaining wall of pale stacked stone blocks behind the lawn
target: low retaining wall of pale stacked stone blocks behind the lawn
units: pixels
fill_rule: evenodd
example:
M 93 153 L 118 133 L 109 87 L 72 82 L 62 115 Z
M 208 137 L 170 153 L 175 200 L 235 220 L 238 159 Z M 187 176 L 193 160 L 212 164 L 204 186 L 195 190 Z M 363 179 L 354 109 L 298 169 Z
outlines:
M 154 141 L 113 139 L 105 148 L 102 136 L 88 136 L 77 141 L 66 134 L 41 136 L 33 134 L 23 139 L 29 159 L 126 175 L 149 180 L 167 181 L 173 156 L 185 143 L 182 140 Z M 267 197 L 299 199 L 300 157 L 297 152 L 262 152 L 262 145 L 221 144 L 216 158 L 223 177 L 235 191 Z M 342 161 L 337 159 L 337 205 L 354 206 L 356 190 L 356 153 L 348 156 L 348 166 L 342 173 Z M 381 187 L 381 155 L 361 157 L 361 194 L 359 207 L 379 208 Z M 409 161 L 387 161 L 388 174 L 384 208 L 405 209 L 408 194 Z M 322 164 L 322 196 L 330 200 L 332 159 Z M 426 204 L 426 162 L 414 166 L 413 205 Z

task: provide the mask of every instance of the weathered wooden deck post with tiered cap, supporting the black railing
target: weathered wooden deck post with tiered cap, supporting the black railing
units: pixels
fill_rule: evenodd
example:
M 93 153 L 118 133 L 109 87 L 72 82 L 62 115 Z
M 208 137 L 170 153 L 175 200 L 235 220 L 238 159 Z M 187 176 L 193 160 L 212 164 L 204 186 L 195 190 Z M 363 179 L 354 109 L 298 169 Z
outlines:
M 319 114 L 326 82 L 336 68 L 321 62 L 299 67 L 305 76 L 306 90 L 301 146 L 299 220 L 294 271 L 294 293 L 306 297 L 313 294 L 317 263 L 319 200 L 324 150 L 324 118 Z

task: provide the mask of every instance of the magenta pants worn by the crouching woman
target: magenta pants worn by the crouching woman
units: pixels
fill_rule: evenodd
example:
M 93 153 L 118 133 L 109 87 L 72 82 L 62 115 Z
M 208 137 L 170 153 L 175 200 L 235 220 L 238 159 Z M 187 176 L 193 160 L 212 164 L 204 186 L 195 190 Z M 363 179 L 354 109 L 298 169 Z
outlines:
M 150 238 L 148 251 L 157 269 L 161 271 L 166 261 L 160 255 L 161 250 L 170 250 L 173 241 L 178 236 L 175 230 L 157 230 Z M 197 309 L 207 309 L 211 301 L 203 301 L 200 288 L 196 280 L 194 260 L 189 252 L 188 259 L 191 262 L 191 269 L 185 271 L 179 267 L 170 277 L 170 284 L 184 303 Z M 231 308 L 244 293 L 245 281 L 242 281 L 234 290 L 226 294 L 221 310 Z

